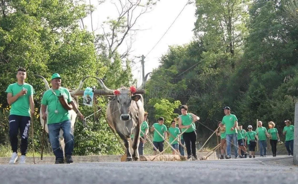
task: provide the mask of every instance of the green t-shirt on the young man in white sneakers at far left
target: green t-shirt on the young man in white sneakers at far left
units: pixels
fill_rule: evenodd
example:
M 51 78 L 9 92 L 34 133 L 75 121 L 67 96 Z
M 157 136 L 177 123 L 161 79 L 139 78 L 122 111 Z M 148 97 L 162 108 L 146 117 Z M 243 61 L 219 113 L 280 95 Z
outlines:
M 32 85 L 24 82 L 23 85 L 18 85 L 17 82 L 10 84 L 6 91 L 12 93 L 13 96 L 18 94 L 23 88 L 27 89 L 27 94 L 18 97 L 18 99 L 11 104 L 10 115 L 29 116 L 30 117 L 30 102 L 29 96 L 34 95 L 35 91 Z

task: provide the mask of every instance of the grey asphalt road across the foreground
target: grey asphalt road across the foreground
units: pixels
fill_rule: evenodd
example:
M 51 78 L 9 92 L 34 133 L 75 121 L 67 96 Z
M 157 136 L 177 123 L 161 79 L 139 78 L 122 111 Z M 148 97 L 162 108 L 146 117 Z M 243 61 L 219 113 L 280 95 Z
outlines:
M 1 165 L 1 184 L 188 184 L 297 183 L 298 167 L 274 164 L 268 156 L 184 162 L 105 162 Z M 287 159 L 289 160 L 289 159 Z

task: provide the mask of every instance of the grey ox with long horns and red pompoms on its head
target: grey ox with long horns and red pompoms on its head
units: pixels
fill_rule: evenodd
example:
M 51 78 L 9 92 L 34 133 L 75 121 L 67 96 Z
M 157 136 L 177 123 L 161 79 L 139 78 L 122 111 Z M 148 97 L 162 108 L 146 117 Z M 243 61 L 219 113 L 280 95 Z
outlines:
M 139 160 L 140 126 L 144 121 L 145 110 L 143 96 L 135 93 L 144 88 L 150 73 L 146 74 L 142 85 L 137 89 L 121 87 L 117 90 L 111 90 L 100 79 L 97 79 L 105 93 L 111 95 L 109 96 L 111 101 L 107 105 L 106 117 L 109 126 L 118 133 L 124 142 L 127 154 L 126 161 Z M 132 133 L 135 135 L 133 142 L 130 138 Z

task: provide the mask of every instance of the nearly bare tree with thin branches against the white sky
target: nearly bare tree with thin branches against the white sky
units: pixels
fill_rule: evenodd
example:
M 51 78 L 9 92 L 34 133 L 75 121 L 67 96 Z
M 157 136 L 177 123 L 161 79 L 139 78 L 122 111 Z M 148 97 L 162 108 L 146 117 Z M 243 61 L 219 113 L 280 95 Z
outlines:
M 126 49 L 120 54 L 120 59 L 127 57 L 131 51 L 133 43 L 133 35 L 136 31 L 141 29 L 135 29 L 136 22 L 140 16 L 150 12 L 149 10 L 156 1 L 146 0 L 142 3 L 142 0 L 117 0 L 112 2 L 118 12 L 116 19 L 108 18 L 103 23 L 108 26 L 108 30 L 104 25 L 101 25 L 103 34 L 96 35 L 95 45 L 97 52 L 101 52 L 108 59 L 111 59 L 114 53 L 119 47 L 126 42 Z

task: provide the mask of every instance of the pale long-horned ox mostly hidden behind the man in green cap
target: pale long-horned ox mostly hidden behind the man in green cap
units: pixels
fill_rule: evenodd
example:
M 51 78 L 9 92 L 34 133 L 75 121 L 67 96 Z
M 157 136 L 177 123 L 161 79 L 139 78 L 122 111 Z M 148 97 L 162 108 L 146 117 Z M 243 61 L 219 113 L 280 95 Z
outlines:
M 44 77 L 42 77 L 40 75 L 36 75 L 36 74 L 35 74 L 35 76 L 38 77 L 38 78 L 41 78 L 44 81 L 46 90 L 49 90 L 50 89 L 49 83 L 46 81 L 46 79 Z M 72 100 L 73 100 L 74 104 L 76 105 L 76 107 L 79 107 L 79 102 L 78 102 L 78 97 L 75 96 L 75 94 L 77 94 L 81 90 L 81 88 L 83 86 L 83 83 L 84 83 L 84 80 L 87 79 L 88 77 L 90 77 L 90 76 L 84 77 L 80 81 L 80 84 L 79 84 L 79 86 L 78 86 L 78 88 L 76 90 L 74 90 L 74 91 L 69 90 L 70 95 L 72 97 Z M 69 114 L 70 114 L 70 117 L 71 117 L 71 130 L 72 130 L 72 134 L 73 134 L 74 133 L 74 126 L 75 126 L 75 119 L 77 118 L 77 114 L 75 113 L 74 110 L 69 110 Z M 48 115 L 48 107 L 46 107 L 46 115 Z M 48 118 L 48 116 L 47 116 L 47 118 Z M 44 128 L 44 119 L 41 116 L 41 108 L 40 108 L 40 122 L 41 122 L 41 126 Z M 47 124 L 45 125 L 45 128 L 44 129 L 45 129 L 45 131 L 47 133 L 49 133 L 48 125 Z M 64 143 L 62 129 L 60 129 L 60 132 L 59 132 L 59 143 L 60 143 L 60 146 L 62 147 L 63 156 L 64 156 L 64 159 L 65 159 L 65 150 L 64 150 L 65 143 Z

